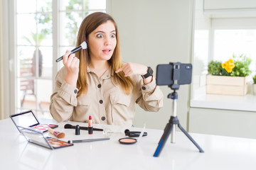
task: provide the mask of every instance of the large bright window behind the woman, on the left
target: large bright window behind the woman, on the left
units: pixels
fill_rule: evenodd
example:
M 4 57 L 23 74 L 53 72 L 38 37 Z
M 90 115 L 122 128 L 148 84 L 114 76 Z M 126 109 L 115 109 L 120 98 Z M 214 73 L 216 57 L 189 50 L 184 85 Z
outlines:
M 63 66 L 55 59 L 75 47 L 82 19 L 95 11 L 106 12 L 106 0 L 16 0 L 16 113 L 32 109 L 50 117 L 55 74 Z

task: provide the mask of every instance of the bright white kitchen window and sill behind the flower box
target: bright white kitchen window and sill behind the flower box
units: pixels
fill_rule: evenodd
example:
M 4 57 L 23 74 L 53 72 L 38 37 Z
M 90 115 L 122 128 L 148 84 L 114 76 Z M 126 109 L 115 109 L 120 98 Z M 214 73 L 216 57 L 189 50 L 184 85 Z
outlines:
M 225 62 L 233 55 L 250 57 L 252 75 L 256 74 L 256 13 L 210 12 L 204 12 L 203 1 L 196 0 L 191 107 L 255 111 L 250 77 L 245 96 L 206 95 L 206 74 L 208 62 Z

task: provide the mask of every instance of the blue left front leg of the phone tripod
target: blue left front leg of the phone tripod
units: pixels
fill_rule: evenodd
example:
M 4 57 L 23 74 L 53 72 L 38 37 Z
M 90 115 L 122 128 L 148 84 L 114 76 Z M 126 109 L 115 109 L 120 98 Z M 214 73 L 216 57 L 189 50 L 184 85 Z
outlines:
M 169 135 L 171 134 L 171 131 L 174 128 L 174 124 L 167 123 L 166 128 L 164 128 L 164 134 L 161 136 L 161 139 L 159 141 L 159 145 L 156 148 L 156 151 L 154 152 L 154 157 L 158 157 L 161 153 L 161 150 L 164 148 L 164 145 L 166 143 L 166 140 L 168 140 Z

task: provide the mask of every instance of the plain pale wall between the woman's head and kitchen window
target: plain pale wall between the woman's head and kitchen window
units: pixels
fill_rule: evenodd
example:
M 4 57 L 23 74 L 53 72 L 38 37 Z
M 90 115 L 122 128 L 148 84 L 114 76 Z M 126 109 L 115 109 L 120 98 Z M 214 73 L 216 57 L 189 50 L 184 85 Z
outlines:
M 151 66 L 191 62 L 191 30 L 193 1 L 191 0 L 110 0 L 110 13 L 119 28 L 124 62 Z M 161 86 L 164 108 L 159 113 L 146 113 L 139 107 L 134 120 L 136 127 L 164 129 L 171 116 L 171 89 Z M 177 115 L 187 127 L 189 86 L 178 90 Z

